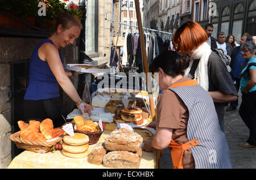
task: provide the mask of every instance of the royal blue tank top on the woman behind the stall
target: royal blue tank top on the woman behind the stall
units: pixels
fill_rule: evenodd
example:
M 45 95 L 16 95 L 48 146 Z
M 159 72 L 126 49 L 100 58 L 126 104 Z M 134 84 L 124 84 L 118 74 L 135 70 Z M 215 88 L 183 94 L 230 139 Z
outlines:
M 43 100 L 60 96 L 59 84 L 49 68 L 48 62 L 42 61 L 38 55 L 38 49 L 46 42 L 53 44 L 51 40 L 44 39 L 39 42 L 32 53 L 29 83 L 24 100 Z M 63 57 L 60 52 L 59 55 L 61 62 L 63 63 Z

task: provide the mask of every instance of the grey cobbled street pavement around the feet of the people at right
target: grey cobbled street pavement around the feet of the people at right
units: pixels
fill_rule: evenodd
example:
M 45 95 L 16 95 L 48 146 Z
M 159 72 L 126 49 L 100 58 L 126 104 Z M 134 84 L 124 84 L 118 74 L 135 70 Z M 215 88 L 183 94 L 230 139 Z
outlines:
M 249 129 L 238 113 L 240 104 L 241 93 L 238 98 L 237 110 L 225 112 L 225 135 L 229 144 L 232 166 L 233 169 L 256 169 L 256 148 L 243 148 L 238 145 L 240 142 L 246 142 L 249 136 Z M 172 169 L 168 148 L 163 149 L 163 154 L 163 157 L 160 158 L 161 168 Z

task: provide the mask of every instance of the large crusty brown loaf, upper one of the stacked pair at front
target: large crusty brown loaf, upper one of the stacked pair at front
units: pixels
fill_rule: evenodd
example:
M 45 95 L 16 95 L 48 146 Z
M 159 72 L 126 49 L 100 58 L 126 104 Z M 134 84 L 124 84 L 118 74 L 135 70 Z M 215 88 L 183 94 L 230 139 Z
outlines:
M 108 151 L 131 151 L 137 152 L 141 148 L 143 139 L 136 132 L 119 128 L 105 139 L 105 148 Z

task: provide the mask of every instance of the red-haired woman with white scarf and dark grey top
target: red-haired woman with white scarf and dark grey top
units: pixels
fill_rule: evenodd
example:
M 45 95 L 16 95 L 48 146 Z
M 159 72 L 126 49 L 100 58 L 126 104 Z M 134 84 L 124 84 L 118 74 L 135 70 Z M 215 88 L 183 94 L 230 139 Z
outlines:
M 185 75 L 195 79 L 213 98 L 221 130 L 224 132 L 224 106 L 237 100 L 232 78 L 220 56 L 207 44 L 207 33 L 200 24 L 188 21 L 181 25 L 172 38 L 176 52 L 191 57 Z

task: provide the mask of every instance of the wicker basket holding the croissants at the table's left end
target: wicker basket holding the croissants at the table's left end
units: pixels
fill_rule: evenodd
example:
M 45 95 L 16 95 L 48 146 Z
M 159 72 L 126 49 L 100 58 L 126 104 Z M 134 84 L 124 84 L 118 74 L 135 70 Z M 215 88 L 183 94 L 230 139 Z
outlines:
M 20 149 L 26 149 L 36 153 L 46 153 L 51 151 L 53 145 L 56 145 L 63 138 L 58 138 L 53 142 L 36 142 L 20 138 L 20 131 L 10 135 L 10 140 L 15 142 L 16 146 Z

